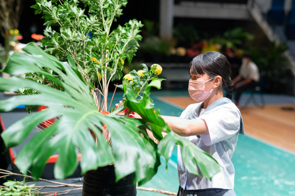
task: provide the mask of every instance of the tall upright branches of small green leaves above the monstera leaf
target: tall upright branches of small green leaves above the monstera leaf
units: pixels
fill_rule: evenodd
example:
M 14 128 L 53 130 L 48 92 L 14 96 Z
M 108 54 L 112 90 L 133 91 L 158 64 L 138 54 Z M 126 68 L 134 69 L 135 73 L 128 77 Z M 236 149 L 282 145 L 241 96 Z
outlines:
M 84 3 L 84 8 L 80 3 Z M 71 56 L 87 84 L 98 84 L 97 72 L 102 77 L 106 74 L 108 80 L 113 80 L 114 75 L 121 78 L 120 59 L 130 62 L 138 49 L 137 41 L 142 38 L 138 33 L 143 25 L 137 20 L 111 31 L 126 4 L 127 0 L 36 0 L 31 7 L 36 9 L 35 14 L 43 13 L 45 19 L 44 50 L 61 61 Z M 91 57 L 98 61 L 92 62 Z

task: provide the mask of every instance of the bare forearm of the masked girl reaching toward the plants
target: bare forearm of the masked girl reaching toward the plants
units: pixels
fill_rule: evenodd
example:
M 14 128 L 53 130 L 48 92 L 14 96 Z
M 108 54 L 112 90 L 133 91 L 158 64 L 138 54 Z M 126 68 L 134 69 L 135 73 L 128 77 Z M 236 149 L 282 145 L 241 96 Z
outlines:
M 195 136 L 209 134 L 206 122 L 203 119 L 185 119 L 175 116 L 161 117 L 168 124 L 170 129 L 179 136 Z

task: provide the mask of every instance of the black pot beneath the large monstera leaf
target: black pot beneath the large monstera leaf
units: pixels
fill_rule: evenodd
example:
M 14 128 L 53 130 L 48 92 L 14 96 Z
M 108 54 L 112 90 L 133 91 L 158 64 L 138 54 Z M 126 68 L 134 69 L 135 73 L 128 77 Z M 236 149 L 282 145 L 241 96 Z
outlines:
M 134 174 L 130 174 L 115 182 L 114 165 L 109 165 L 85 173 L 83 196 L 136 196 Z

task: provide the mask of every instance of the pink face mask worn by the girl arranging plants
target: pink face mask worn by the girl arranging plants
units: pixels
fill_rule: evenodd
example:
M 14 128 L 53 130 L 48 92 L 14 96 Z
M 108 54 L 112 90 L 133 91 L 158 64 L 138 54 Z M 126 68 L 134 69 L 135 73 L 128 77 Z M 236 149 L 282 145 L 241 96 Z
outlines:
M 188 93 L 190 97 L 197 101 L 202 102 L 205 101 L 211 94 L 212 90 L 209 92 L 205 92 L 205 84 L 212 80 L 213 78 L 207 80 L 207 81 L 195 81 L 195 80 L 189 80 L 188 82 Z

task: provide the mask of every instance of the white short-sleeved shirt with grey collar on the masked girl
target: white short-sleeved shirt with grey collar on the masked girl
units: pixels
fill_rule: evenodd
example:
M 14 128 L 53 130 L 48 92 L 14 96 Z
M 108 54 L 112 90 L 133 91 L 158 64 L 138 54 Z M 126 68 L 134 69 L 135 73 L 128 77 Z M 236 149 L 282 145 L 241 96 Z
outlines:
M 201 112 L 204 103 L 189 105 L 180 115 L 182 118 L 202 118 L 206 121 L 209 134 L 183 137 L 209 153 L 222 167 L 211 181 L 203 176 L 189 173 L 182 161 L 178 146 L 177 166 L 179 185 L 186 190 L 209 188 L 234 189 L 235 168 L 231 158 L 236 148 L 238 134 L 244 135 L 242 117 L 236 105 L 228 98 L 221 98 Z M 200 116 L 199 116 L 200 115 Z

